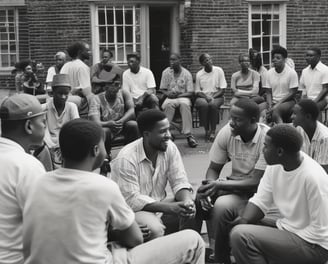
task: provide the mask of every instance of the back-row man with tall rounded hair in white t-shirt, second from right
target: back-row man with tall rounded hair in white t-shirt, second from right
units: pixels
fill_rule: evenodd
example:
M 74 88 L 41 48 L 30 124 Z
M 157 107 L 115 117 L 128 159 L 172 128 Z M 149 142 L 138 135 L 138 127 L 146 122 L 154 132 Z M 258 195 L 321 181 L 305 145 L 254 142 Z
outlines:
M 298 76 L 294 69 L 286 64 L 288 56 L 284 47 L 277 46 L 271 51 L 273 68 L 267 73 L 268 116 L 274 123 L 289 122 L 293 106 L 296 103 L 295 96 L 298 89 Z

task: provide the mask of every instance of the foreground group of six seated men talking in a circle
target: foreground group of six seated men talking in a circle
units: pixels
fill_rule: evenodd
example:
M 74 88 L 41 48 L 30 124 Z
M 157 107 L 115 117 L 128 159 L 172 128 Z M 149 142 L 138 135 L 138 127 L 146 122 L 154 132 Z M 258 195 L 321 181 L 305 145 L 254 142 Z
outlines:
M 293 125 L 272 128 L 251 99 L 233 104 L 195 194 L 162 111 L 140 113 L 141 138 L 107 177 L 97 173 L 106 135 L 80 118 L 61 127 L 62 166 L 46 173 L 26 153 L 42 144 L 45 115 L 28 94 L 0 106 L 1 263 L 202 264 L 203 220 L 213 263 L 328 260 L 328 128 L 311 99 L 294 106 Z M 229 161 L 231 173 L 220 175 Z

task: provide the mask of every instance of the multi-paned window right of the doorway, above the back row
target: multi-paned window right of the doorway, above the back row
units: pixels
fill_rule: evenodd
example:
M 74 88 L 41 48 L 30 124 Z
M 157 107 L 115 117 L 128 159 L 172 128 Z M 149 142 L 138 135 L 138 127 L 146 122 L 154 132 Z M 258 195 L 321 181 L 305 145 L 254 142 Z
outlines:
M 286 46 L 285 4 L 249 4 L 249 32 L 249 47 L 261 52 L 263 65 L 270 67 L 272 48 Z

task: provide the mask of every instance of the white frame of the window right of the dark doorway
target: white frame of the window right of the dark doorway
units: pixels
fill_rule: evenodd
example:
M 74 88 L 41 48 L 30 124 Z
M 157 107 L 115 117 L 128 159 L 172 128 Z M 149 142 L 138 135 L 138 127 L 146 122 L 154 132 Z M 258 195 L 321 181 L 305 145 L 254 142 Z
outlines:
M 252 35 L 252 6 L 253 5 L 279 5 L 279 45 L 286 47 L 287 42 L 287 5 L 286 1 L 249 1 L 248 4 L 248 47 L 253 47 L 252 39 L 254 36 L 261 37 L 261 50 L 259 52 L 263 54 L 263 32 L 261 30 L 261 35 Z M 261 23 L 262 28 L 262 23 Z M 271 34 L 272 34 L 272 23 L 271 23 Z M 272 49 L 272 35 L 270 36 L 270 47 Z M 263 59 L 263 57 L 262 57 Z M 269 64 L 266 64 L 266 66 L 271 67 L 271 55 L 269 56 Z

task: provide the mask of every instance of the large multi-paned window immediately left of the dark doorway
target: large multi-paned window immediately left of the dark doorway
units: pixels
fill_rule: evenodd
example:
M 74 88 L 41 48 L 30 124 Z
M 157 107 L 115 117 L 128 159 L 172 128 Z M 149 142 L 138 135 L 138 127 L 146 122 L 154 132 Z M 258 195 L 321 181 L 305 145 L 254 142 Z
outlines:
M 140 8 L 136 6 L 97 6 L 96 45 L 114 53 L 113 62 L 126 63 L 126 55 L 140 52 Z

